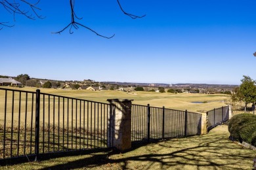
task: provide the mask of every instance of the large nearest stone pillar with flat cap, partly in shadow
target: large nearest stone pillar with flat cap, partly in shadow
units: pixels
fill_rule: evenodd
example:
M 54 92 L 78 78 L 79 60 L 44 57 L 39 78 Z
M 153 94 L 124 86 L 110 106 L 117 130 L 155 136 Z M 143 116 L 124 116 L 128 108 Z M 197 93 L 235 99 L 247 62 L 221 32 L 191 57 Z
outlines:
M 108 99 L 108 147 L 118 150 L 131 148 L 131 101 Z

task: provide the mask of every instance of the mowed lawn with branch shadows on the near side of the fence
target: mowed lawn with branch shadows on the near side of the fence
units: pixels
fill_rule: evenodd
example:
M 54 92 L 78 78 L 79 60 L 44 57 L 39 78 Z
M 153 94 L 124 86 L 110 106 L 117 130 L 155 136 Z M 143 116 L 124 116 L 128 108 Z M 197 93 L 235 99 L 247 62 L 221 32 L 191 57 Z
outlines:
M 0 169 L 251 169 L 256 151 L 228 139 L 228 127 L 207 135 L 134 144 L 127 152 L 109 150 L 5 165 Z

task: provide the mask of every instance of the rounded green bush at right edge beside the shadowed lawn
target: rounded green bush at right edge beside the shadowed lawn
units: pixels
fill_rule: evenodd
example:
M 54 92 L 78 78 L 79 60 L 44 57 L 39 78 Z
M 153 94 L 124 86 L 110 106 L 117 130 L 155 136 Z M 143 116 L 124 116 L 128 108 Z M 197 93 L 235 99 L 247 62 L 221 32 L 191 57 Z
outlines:
M 228 131 L 234 140 L 256 146 L 256 115 L 244 113 L 233 116 Z

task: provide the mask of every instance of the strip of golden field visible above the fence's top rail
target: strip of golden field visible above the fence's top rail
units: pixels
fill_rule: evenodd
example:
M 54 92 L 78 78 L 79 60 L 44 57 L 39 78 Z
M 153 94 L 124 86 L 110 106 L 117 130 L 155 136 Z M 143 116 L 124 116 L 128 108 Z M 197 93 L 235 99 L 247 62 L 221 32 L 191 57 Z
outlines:
M 17 89 L 17 88 L 14 88 Z M 206 112 L 214 108 L 224 106 L 224 99 L 228 95 L 224 94 L 201 94 L 201 93 L 157 93 L 157 92 L 119 92 L 116 90 L 103 90 L 93 92 L 90 90 L 70 90 L 70 89 L 45 89 L 39 88 L 42 93 L 51 93 L 74 97 L 89 101 L 108 103 L 107 99 L 133 99 L 133 104 L 148 105 L 152 107 L 165 107 L 167 109 L 188 110 L 190 112 Z M 27 90 L 35 92 L 37 88 L 18 88 L 18 90 Z M 4 91 L 0 90 L 0 95 Z M 192 103 L 194 101 L 207 103 Z

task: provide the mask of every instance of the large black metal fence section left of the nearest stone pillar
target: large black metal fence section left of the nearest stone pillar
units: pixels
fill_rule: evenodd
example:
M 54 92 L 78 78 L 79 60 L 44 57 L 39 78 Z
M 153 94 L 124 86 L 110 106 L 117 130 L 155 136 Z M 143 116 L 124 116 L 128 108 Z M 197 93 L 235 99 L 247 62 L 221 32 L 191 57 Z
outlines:
M 0 160 L 107 147 L 109 105 L 0 88 Z

